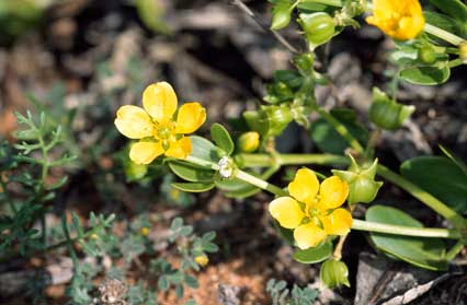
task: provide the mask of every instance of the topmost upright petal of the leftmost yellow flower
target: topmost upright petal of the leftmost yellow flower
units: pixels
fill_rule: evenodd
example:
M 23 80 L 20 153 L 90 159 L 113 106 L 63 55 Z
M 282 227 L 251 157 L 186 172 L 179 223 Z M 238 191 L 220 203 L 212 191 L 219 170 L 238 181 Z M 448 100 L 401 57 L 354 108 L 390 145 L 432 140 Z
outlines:
M 176 94 L 167 82 L 151 84 L 143 93 L 143 106 L 161 125 L 172 119 L 176 104 Z

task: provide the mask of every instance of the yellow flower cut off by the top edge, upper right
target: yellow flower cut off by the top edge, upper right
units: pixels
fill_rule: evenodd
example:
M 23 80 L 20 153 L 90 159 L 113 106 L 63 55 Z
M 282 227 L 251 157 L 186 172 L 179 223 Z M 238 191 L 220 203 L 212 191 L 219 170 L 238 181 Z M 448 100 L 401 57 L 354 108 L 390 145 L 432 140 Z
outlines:
M 417 37 L 425 25 L 418 0 L 373 0 L 373 15 L 366 22 L 398 40 Z

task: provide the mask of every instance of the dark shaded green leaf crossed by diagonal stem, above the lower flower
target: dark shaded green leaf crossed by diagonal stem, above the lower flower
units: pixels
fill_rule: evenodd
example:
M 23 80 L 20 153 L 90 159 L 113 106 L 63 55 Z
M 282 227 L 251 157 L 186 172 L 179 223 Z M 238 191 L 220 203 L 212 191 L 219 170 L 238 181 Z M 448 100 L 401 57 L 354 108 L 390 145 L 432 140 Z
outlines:
M 368 130 L 357 121 L 353 110 L 334 109 L 331 115 L 342 122 L 360 143 L 365 144 L 368 141 Z M 311 138 L 322 152 L 342 154 L 349 146 L 345 139 L 324 119 L 311 124 Z

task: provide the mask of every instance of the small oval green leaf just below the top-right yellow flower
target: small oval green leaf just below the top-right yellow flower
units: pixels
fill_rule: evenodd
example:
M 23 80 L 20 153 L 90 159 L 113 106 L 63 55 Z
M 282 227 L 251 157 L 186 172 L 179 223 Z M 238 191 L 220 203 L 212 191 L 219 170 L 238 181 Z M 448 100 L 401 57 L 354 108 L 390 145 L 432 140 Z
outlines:
M 436 85 L 449 79 L 451 70 L 447 67 L 412 67 L 403 69 L 400 78 L 412 84 Z

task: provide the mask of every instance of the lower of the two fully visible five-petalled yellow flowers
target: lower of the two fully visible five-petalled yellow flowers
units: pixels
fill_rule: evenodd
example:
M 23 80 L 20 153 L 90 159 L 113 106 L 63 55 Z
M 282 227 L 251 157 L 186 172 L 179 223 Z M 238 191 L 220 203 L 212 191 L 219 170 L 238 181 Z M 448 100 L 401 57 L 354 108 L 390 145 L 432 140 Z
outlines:
M 274 199 L 269 207 L 281 226 L 294 230 L 300 249 L 317 246 L 328 235 L 345 235 L 352 226 L 351 213 L 341 207 L 349 195 L 349 185 L 338 176 L 319 185 L 315 173 L 298 169 L 288 184 L 292 197 Z

